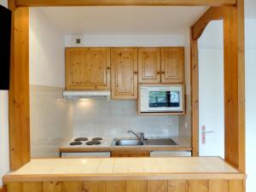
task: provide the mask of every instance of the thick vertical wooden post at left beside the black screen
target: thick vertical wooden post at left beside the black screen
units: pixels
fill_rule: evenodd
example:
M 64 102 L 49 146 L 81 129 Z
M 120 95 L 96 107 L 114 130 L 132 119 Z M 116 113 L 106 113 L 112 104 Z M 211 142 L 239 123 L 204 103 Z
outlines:
M 9 88 L 10 169 L 16 170 L 30 160 L 29 119 L 29 10 L 12 9 L 11 64 Z

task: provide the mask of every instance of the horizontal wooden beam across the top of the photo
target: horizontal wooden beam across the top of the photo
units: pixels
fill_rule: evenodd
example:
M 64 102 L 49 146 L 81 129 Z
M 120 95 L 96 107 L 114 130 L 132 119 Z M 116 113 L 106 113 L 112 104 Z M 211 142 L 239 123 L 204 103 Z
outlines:
M 17 6 L 231 6 L 236 0 L 16 0 Z

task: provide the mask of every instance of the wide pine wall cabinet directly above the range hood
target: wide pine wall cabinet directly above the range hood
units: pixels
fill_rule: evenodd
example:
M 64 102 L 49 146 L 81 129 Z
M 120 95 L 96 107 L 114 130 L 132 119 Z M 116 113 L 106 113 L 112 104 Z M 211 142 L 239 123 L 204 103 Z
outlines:
M 109 48 L 66 49 L 67 90 L 109 90 Z

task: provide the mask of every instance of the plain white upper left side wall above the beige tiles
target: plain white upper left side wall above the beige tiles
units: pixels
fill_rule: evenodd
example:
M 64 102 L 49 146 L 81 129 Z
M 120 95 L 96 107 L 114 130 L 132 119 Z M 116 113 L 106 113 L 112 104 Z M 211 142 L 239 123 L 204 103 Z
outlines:
M 30 9 L 30 84 L 64 87 L 64 35 L 38 9 Z

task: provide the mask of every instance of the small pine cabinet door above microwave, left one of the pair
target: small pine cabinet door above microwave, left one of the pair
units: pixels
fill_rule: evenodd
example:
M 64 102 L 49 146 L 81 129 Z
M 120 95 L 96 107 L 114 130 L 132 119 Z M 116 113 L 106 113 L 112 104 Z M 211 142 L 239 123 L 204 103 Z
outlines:
M 138 82 L 160 83 L 160 48 L 138 49 Z

